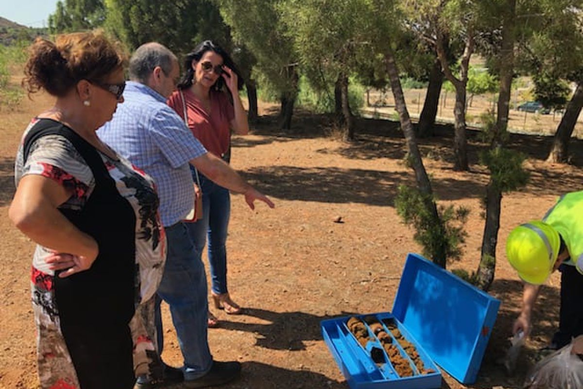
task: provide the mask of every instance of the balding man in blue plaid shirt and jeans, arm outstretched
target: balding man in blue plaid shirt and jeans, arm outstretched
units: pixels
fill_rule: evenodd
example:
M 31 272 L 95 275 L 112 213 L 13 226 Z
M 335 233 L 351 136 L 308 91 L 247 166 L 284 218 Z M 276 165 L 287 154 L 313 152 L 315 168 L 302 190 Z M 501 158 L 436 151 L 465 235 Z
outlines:
M 201 388 L 227 383 L 239 376 L 238 362 L 213 361 L 207 340 L 207 284 L 205 269 L 196 255 L 187 229 L 181 221 L 194 204 L 194 187 L 189 164 L 210 180 L 254 201 L 273 203 L 223 160 L 206 152 L 182 119 L 167 106 L 180 74 L 175 55 L 158 43 L 147 43 L 134 52 L 124 103 L 113 119 L 99 129 L 102 141 L 156 180 L 160 216 L 166 230 L 167 260 L 158 295 L 170 305 L 170 312 L 184 357 L 182 372 L 164 366 L 165 379 L 158 383 L 138 377 L 137 389 L 160 387 L 182 379 L 185 387 Z M 163 348 L 160 299 L 156 305 L 158 352 Z

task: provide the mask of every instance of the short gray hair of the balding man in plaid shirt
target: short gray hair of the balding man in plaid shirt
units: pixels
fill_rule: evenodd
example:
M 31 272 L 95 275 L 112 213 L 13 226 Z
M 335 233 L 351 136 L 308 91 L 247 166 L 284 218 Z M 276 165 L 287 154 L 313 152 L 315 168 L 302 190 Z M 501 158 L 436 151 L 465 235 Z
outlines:
M 145 43 L 129 59 L 129 79 L 146 84 L 156 66 L 160 66 L 164 75 L 169 75 L 176 61 L 176 55 L 166 46 L 156 42 Z

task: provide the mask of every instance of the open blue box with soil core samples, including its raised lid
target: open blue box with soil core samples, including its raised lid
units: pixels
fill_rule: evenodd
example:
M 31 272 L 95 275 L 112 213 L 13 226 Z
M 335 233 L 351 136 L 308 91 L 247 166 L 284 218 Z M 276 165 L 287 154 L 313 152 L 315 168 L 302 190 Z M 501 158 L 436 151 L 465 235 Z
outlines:
M 352 389 L 441 387 L 436 364 L 475 382 L 500 301 L 417 254 L 392 313 L 324 320 L 322 336 Z

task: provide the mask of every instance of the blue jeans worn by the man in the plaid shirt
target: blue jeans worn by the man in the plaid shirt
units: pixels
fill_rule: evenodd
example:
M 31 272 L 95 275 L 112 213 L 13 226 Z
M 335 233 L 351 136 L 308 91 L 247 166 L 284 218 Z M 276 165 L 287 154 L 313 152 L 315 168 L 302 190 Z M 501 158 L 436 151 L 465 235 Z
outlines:
M 184 223 L 166 227 L 167 257 L 158 295 L 170 306 L 178 344 L 184 358 L 184 379 L 194 380 L 210 370 L 212 355 L 206 338 L 208 301 L 206 274 Z M 161 355 L 164 332 L 156 300 L 155 323 Z

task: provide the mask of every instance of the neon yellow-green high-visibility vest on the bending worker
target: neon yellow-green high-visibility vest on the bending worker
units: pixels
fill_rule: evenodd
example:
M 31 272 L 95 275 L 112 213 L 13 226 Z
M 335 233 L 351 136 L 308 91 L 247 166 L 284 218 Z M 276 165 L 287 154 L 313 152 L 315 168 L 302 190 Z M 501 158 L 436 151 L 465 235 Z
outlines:
M 567 245 L 571 258 L 563 263 L 583 274 L 583 191 L 561 196 L 543 222 L 556 229 Z

